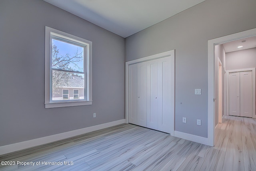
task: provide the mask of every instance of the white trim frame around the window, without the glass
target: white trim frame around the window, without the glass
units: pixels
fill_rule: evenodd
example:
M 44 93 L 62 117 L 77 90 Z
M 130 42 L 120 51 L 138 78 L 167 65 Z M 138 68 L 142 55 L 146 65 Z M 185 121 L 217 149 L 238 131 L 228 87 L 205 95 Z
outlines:
M 68 38 L 72 38 L 78 41 L 86 42 L 88 44 L 88 54 L 86 63 L 86 99 L 87 100 L 77 100 L 77 101 L 51 101 L 50 100 L 50 50 L 51 50 L 51 38 L 50 33 L 60 34 L 62 36 L 66 36 Z M 89 40 L 85 40 L 83 38 L 79 38 L 77 36 L 73 36 L 71 34 L 56 30 L 54 28 L 50 28 L 45 26 L 45 91 L 44 91 L 44 104 L 45 108 L 53 108 L 53 107 L 68 107 L 68 106 L 79 106 L 79 105 L 92 105 L 92 42 Z M 87 84 L 87 85 L 86 85 Z

